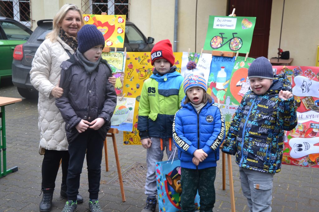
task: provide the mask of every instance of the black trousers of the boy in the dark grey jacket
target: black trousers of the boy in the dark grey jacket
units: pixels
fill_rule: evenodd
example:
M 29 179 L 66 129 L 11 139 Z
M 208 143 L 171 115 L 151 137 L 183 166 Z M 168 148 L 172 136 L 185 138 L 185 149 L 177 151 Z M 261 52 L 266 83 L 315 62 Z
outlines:
M 69 144 L 69 169 L 66 180 L 68 200 L 77 200 L 80 174 L 86 151 L 90 199 L 98 199 L 101 179 L 101 160 L 104 139 L 96 130 L 87 129 Z

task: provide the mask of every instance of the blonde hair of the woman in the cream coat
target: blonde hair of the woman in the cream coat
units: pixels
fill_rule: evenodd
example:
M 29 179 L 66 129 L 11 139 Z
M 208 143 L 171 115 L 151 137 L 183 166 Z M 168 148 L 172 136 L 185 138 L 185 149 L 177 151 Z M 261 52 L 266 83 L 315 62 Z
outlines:
M 45 38 L 49 38 L 51 42 L 56 42 L 56 38 L 59 36 L 60 26 L 63 18 L 65 17 L 66 13 L 69 10 L 78 11 L 81 17 L 81 26 L 84 25 L 84 20 L 82 17 L 82 12 L 75 4 L 64 4 L 60 10 L 56 13 L 55 17 L 53 18 L 53 29 L 49 32 Z

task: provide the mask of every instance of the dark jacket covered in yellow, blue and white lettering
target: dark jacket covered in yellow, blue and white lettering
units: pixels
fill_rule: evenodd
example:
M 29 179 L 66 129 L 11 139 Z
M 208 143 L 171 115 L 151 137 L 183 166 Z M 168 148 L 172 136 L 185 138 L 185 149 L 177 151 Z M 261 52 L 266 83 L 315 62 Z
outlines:
M 275 75 L 267 92 L 257 95 L 249 91 L 241 100 L 222 149 L 237 154 L 239 167 L 280 172 L 284 130 L 297 125 L 294 99 L 279 99 L 280 90 L 291 91 L 291 83 L 284 75 Z

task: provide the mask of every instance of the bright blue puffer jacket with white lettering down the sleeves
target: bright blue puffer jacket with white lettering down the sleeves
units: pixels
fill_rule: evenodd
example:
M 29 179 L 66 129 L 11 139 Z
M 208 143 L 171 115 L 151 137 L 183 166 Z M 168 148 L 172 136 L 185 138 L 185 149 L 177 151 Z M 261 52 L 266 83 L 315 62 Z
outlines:
M 186 98 L 186 97 L 185 97 Z M 178 148 L 182 168 L 204 169 L 216 167 L 219 160 L 219 146 L 225 138 L 225 122 L 217 105 L 207 102 L 198 114 L 190 104 L 184 104 L 176 112 L 173 122 L 173 138 Z M 208 157 L 198 166 L 192 159 L 197 149 L 203 149 Z

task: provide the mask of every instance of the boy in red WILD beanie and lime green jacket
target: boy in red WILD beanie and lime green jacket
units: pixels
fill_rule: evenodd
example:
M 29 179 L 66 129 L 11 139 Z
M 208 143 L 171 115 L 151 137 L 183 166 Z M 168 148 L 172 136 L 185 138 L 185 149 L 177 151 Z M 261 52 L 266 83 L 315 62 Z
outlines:
M 185 96 L 183 77 L 176 71 L 171 42 L 161 40 L 151 52 L 153 74 L 146 79 L 138 108 L 137 129 L 142 146 L 147 149 L 147 174 L 145 183 L 146 205 L 142 212 L 155 211 L 157 186 L 155 162 L 162 161 L 164 149 L 172 154 L 172 125 L 174 115 Z M 176 155 L 177 156 L 177 155 Z

